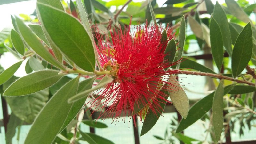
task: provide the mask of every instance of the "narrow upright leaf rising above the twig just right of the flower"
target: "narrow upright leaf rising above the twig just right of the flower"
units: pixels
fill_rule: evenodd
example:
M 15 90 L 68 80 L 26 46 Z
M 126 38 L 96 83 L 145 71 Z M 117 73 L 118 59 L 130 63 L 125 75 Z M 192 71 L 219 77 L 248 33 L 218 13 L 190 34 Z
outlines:
M 180 22 L 180 31 L 179 31 L 179 44 L 178 44 L 178 60 L 181 59 L 184 43 L 185 43 L 185 36 L 186 36 L 186 24 L 185 24 L 185 17 L 183 16 Z M 177 64 L 176 69 L 180 68 L 180 63 Z

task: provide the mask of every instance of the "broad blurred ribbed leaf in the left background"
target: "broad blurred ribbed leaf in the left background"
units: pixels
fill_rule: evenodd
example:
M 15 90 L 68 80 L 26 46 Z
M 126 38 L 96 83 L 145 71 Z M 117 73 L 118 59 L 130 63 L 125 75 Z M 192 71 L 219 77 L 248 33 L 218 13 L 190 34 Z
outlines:
M 32 123 L 49 98 L 49 89 L 24 97 L 5 97 L 12 112 L 21 120 Z

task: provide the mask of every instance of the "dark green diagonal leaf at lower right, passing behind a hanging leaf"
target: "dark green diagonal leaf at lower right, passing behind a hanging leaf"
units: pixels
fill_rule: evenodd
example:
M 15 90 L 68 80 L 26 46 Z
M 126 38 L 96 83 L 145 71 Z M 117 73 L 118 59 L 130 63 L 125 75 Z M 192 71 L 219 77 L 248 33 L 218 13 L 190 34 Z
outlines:
M 235 84 L 228 85 L 224 87 L 224 95 L 230 91 Z M 212 101 L 214 93 L 207 95 L 206 97 L 199 100 L 196 104 L 194 104 L 190 110 L 188 111 L 187 118 L 182 118 L 180 121 L 179 126 L 176 129 L 176 133 L 179 133 L 186 129 L 188 126 L 195 123 L 198 119 L 202 118 L 211 108 L 212 108 Z

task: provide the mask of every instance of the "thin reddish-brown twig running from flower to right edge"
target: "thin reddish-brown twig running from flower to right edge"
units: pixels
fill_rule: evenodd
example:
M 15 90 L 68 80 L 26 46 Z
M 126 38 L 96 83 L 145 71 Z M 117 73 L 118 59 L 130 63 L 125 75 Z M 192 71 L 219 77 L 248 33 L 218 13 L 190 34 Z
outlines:
M 210 76 L 210 77 L 215 77 L 215 78 L 218 78 L 218 79 L 226 79 L 226 80 L 234 81 L 234 82 L 237 82 L 237 83 L 245 83 L 245 84 L 248 84 L 248 85 L 255 86 L 254 83 L 251 83 L 251 82 L 248 82 L 248 81 L 234 79 L 232 77 L 223 76 L 221 74 L 212 74 L 212 73 L 204 73 L 204 72 L 196 72 L 196 71 L 179 71 L 178 74 Z

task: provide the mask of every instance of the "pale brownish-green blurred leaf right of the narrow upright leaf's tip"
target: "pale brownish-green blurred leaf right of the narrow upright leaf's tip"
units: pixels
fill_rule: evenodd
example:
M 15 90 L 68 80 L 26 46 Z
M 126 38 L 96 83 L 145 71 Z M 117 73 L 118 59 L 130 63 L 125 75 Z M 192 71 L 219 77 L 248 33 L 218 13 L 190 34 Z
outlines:
M 190 15 L 188 15 L 188 22 L 195 36 L 200 39 L 203 39 L 203 30 L 201 28 L 201 25 Z

